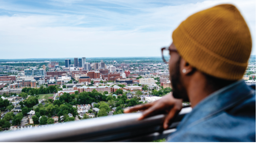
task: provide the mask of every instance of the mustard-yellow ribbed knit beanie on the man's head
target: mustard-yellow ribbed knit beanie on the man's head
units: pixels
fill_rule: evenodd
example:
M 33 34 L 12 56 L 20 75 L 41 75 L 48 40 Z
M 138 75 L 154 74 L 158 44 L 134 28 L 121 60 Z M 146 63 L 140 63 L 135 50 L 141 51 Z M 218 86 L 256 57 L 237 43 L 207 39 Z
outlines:
M 181 57 L 211 76 L 242 79 L 251 54 L 249 28 L 234 5 L 217 5 L 184 20 L 172 33 Z

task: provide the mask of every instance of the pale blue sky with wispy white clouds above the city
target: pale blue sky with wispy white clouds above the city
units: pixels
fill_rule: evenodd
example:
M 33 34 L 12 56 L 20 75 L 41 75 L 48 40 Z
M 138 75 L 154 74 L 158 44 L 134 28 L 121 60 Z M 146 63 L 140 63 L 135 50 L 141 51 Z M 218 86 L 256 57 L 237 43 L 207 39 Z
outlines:
M 191 14 L 229 3 L 251 31 L 255 0 L 0 0 L 0 59 L 158 57 Z

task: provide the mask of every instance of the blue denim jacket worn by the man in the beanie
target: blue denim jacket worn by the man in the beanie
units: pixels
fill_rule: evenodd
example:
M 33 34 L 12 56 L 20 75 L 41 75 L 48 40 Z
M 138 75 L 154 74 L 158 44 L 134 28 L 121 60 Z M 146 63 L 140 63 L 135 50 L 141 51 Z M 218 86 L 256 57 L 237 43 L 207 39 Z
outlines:
M 239 80 L 198 103 L 171 134 L 171 142 L 255 142 L 255 89 Z

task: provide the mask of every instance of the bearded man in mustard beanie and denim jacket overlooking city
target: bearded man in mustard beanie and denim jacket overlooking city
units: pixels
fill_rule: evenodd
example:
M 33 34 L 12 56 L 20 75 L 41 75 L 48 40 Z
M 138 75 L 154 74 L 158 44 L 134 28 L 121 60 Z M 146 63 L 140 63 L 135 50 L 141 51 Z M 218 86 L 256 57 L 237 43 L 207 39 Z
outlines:
M 172 94 L 124 112 L 144 110 L 142 120 L 165 111 L 167 129 L 182 102 L 189 101 L 193 110 L 168 141 L 255 142 L 255 89 L 242 80 L 252 42 L 238 9 L 217 5 L 193 14 L 172 38 L 168 48 Z

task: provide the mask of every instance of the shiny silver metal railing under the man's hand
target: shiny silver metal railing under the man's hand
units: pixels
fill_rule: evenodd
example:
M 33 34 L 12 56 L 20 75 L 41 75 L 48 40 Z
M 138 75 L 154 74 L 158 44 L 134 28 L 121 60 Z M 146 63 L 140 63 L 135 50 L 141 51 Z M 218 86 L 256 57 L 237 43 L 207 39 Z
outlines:
M 163 114 L 138 121 L 142 113 L 129 113 L 41 128 L 2 132 L 0 142 L 153 141 L 165 138 L 174 132 L 184 115 L 191 110 L 191 107 L 183 108 L 167 130 L 162 128 L 165 117 Z

